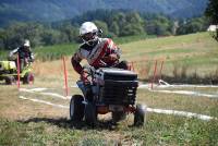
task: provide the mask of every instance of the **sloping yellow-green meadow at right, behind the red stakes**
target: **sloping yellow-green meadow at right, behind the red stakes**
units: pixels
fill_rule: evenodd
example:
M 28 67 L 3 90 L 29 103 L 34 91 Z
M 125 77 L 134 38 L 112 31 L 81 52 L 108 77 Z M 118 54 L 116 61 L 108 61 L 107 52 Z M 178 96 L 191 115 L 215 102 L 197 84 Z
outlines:
M 187 76 L 197 73 L 198 76 L 209 76 L 218 70 L 218 42 L 208 33 L 197 33 L 177 37 L 144 39 L 120 45 L 123 59 L 135 61 L 136 71 L 147 70 L 144 78 L 150 78 L 154 72 L 155 60 L 158 68 L 164 60 L 162 74 L 172 75 L 178 68 L 189 68 Z M 141 64 L 141 65 L 140 65 Z M 145 74 L 145 73 L 144 73 Z M 218 75 L 217 75 L 218 76 Z

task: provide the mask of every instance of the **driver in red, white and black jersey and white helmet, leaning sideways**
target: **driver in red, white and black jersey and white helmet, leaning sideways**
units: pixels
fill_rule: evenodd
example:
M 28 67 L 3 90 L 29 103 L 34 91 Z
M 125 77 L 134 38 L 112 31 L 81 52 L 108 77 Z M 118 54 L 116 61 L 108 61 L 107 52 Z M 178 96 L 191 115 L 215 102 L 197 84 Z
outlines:
M 100 38 L 99 34 L 102 31 L 98 29 L 93 22 L 85 22 L 80 27 L 80 37 L 83 44 L 71 59 L 74 70 L 81 74 L 84 83 L 88 83 L 87 72 L 82 68 L 81 61 L 87 60 L 90 66 L 98 68 L 120 68 L 128 70 L 126 61 L 119 61 L 121 51 L 120 48 L 110 38 Z

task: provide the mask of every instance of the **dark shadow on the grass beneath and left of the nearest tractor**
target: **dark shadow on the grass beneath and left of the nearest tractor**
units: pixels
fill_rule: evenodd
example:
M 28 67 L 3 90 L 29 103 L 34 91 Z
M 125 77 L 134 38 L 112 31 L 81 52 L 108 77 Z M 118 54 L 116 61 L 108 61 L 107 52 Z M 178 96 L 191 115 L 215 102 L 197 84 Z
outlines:
M 111 120 L 108 121 L 99 121 L 96 123 L 95 126 L 88 125 L 85 121 L 71 121 L 66 118 L 60 118 L 60 119 L 51 119 L 51 118 L 31 118 L 27 120 L 19 120 L 17 122 L 21 123 L 40 123 L 46 122 L 52 125 L 57 125 L 62 129 L 76 129 L 76 130 L 83 130 L 83 129 L 89 129 L 89 130 L 116 130 L 117 124 L 113 123 Z

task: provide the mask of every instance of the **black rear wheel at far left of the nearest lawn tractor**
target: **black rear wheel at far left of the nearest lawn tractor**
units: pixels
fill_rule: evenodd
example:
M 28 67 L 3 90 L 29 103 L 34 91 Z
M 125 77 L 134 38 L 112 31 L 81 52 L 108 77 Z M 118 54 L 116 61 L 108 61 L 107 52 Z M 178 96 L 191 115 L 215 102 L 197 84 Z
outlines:
M 83 104 L 82 95 L 74 95 L 70 102 L 70 119 L 72 121 L 82 121 L 84 117 L 85 105 Z

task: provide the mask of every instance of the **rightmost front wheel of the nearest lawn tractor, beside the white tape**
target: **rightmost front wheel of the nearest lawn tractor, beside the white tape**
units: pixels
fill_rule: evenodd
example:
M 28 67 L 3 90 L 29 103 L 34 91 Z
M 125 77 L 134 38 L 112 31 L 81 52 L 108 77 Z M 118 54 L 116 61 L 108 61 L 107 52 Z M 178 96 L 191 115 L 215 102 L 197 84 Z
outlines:
M 142 105 L 136 105 L 136 110 L 134 113 L 134 125 L 135 126 L 144 125 L 145 113 L 146 113 L 146 107 L 142 106 Z

